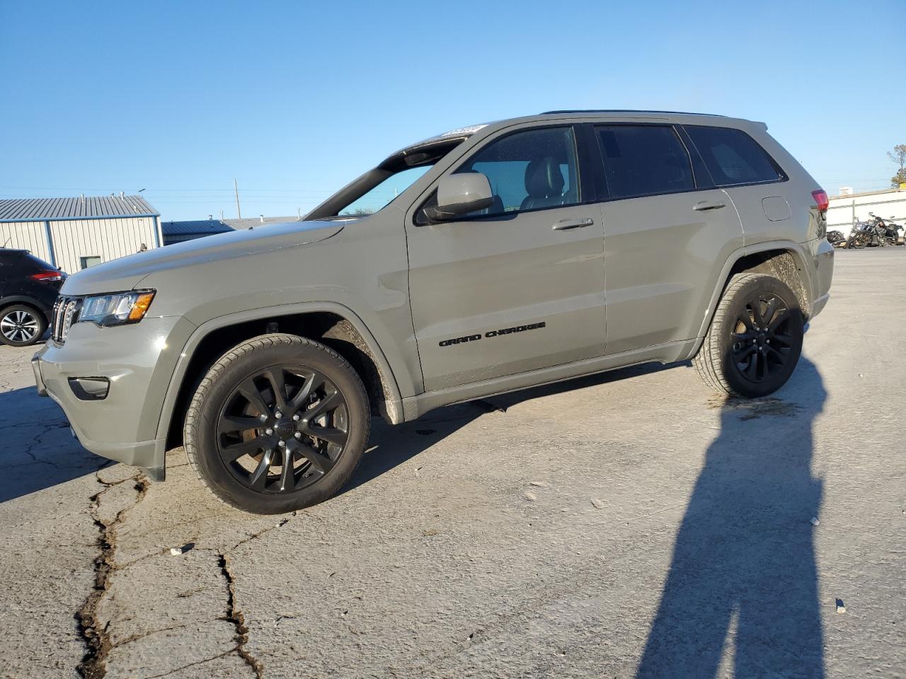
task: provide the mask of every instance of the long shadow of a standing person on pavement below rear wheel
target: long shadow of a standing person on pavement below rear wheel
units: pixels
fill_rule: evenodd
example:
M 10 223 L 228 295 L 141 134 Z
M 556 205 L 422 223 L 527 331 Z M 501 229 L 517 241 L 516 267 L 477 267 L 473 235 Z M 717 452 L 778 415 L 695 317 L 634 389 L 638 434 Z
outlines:
M 708 448 L 637 677 L 824 677 L 812 427 L 825 400 L 805 357 L 776 398 L 729 399 Z M 730 641 L 734 627 L 735 644 Z M 734 647 L 735 646 L 735 647 Z

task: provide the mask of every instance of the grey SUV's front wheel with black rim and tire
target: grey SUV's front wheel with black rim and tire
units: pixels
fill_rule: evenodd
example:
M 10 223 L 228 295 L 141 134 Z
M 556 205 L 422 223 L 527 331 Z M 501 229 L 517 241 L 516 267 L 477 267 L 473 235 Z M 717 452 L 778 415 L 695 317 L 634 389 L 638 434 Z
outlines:
M 370 428 L 368 395 L 345 359 L 311 339 L 269 334 L 230 349 L 207 371 L 188 406 L 184 441 L 217 498 L 277 514 L 337 493 Z

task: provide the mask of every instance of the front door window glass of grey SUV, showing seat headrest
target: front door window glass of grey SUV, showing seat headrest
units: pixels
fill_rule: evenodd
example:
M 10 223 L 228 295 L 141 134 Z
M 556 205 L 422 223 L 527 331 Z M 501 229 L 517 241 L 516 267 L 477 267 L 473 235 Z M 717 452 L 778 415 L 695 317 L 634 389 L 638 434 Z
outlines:
M 526 129 L 492 141 L 457 172 L 487 177 L 494 204 L 472 215 L 505 215 L 582 201 L 573 128 Z

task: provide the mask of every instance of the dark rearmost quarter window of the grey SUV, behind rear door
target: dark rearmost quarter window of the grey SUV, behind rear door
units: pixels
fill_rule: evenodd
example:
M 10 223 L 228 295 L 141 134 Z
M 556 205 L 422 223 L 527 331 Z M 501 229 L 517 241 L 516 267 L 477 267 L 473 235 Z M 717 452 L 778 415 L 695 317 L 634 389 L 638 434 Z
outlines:
M 685 126 L 718 186 L 761 184 L 784 178 L 771 157 L 741 129 Z

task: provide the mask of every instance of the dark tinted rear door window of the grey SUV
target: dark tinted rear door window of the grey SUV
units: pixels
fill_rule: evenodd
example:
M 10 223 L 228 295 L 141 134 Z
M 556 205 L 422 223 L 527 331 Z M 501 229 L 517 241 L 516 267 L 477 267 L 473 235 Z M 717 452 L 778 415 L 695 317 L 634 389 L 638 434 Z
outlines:
M 612 198 L 656 196 L 695 188 L 689 153 L 664 125 L 595 128 Z

